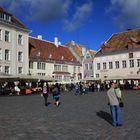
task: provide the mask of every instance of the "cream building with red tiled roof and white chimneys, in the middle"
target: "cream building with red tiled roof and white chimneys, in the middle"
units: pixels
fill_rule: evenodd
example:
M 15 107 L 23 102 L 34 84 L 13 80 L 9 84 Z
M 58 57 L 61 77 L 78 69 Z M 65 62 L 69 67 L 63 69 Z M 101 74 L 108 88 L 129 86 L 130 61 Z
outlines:
M 58 82 L 77 82 L 82 78 L 82 65 L 68 47 L 38 38 L 29 38 L 29 67 L 31 75 L 54 77 Z

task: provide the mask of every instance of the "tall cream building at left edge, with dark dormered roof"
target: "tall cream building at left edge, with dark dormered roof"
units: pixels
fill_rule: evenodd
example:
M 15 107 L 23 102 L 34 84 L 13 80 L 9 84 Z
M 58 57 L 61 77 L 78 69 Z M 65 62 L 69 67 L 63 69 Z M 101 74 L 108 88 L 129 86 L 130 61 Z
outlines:
M 28 74 L 30 30 L 0 7 L 0 73 Z

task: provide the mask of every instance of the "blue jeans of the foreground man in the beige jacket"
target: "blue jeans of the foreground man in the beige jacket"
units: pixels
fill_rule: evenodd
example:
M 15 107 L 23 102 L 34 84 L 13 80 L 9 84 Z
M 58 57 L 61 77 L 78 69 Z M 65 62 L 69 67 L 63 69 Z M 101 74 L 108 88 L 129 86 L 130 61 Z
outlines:
M 117 106 L 111 106 L 111 113 L 112 113 L 112 119 L 113 119 L 113 125 L 121 125 L 121 110 L 119 105 Z

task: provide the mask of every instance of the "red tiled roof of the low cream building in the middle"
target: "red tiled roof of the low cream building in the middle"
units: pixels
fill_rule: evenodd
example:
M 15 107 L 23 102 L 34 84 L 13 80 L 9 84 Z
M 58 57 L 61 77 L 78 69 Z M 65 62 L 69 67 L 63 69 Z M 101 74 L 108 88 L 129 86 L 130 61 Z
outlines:
M 54 43 L 37 38 L 29 37 L 30 54 L 29 58 L 37 59 L 40 52 L 39 59 L 41 60 L 54 60 L 54 61 L 66 61 L 71 63 L 78 63 L 76 58 L 72 55 L 68 47 L 62 45 L 55 46 Z M 52 55 L 50 58 L 49 56 Z M 62 59 L 63 57 L 63 59 Z

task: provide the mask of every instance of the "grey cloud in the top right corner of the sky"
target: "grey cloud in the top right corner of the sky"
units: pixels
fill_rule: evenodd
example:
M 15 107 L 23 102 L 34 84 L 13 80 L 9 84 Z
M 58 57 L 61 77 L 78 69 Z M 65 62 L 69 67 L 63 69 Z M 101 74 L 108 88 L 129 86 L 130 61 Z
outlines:
M 140 27 L 140 0 L 111 0 L 109 11 L 113 12 L 115 22 L 123 28 Z

